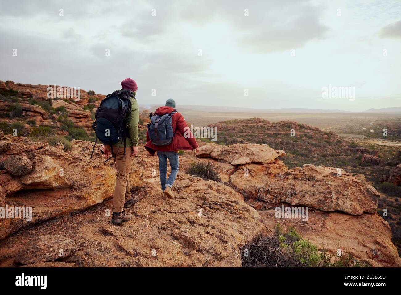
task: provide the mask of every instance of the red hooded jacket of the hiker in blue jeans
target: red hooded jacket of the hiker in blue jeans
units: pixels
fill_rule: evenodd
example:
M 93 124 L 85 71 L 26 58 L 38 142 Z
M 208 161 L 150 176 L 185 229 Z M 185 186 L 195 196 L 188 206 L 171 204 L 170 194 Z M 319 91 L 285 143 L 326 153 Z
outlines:
M 172 107 L 159 107 L 156 109 L 154 112 L 155 115 L 165 115 L 169 114 L 174 109 Z M 172 115 L 171 118 L 171 124 L 173 127 L 173 132 L 176 132 L 176 134 L 173 137 L 173 141 L 169 145 L 154 145 L 152 143 L 152 140 L 149 139 L 149 134 L 146 132 L 146 145 L 145 148 L 148 150 L 148 152 L 154 156 L 155 151 L 161 151 L 161 152 L 173 152 L 173 151 L 179 151 L 179 150 L 194 150 L 196 147 L 198 147 L 198 143 L 196 142 L 196 139 L 194 138 L 194 135 L 189 129 L 184 129 L 188 128 L 188 125 L 186 124 L 184 117 L 180 113 L 175 113 Z M 185 132 L 188 134 L 188 131 L 190 133 L 190 137 L 186 138 L 184 137 Z

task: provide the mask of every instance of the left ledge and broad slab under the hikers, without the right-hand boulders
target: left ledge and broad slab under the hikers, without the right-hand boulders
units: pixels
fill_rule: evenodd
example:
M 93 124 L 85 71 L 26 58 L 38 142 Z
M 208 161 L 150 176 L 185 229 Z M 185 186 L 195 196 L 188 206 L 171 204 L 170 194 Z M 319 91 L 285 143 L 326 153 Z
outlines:
M 21 178 L 2 171 L 0 185 L 6 198 L 0 199 L 0 207 L 32 207 L 32 221 L 0 219 L 0 266 L 239 267 L 240 247 L 266 230 L 259 214 L 236 190 L 183 171 L 174 184 L 176 199 L 165 201 L 159 176 L 154 175 L 157 157 L 134 158 L 130 184 L 140 201 L 127 209 L 133 213 L 132 220 L 115 226 L 110 222 L 109 200 L 115 184 L 114 164 L 104 163 L 97 149 L 89 160 L 90 142 L 73 141 L 71 151 L 63 152 L 61 144 L 37 146 L 9 135 L 2 140 L 7 142 L 6 150 L 13 145 L 18 151 L 22 149 L 18 143 L 23 143 L 33 169 Z M 7 157 L 0 154 L 0 161 Z M 63 169 L 59 178 L 64 182 L 58 182 L 51 172 L 58 166 Z M 46 243 L 42 246 L 31 240 L 57 234 L 71 239 L 76 251 L 56 257 L 55 251 L 45 251 Z M 62 248 L 57 243 L 53 242 L 52 249 Z M 41 254 L 36 255 L 38 259 L 33 259 L 32 251 L 24 255 L 26 249 L 35 247 Z

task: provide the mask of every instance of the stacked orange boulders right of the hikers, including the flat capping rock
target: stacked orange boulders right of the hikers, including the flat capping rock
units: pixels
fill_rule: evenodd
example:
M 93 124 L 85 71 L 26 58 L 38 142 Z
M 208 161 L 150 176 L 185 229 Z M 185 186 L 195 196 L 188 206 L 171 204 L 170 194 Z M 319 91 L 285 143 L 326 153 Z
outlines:
M 344 170 L 310 164 L 288 170 L 284 162 L 277 158 L 285 153 L 266 145 L 213 145 L 199 150 L 202 156 L 207 150 L 210 151 L 210 158 L 231 161 L 232 165 L 236 165 L 236 169 L 229 170 L 229 182 L 247 198 L 354 215 L 372 213 L 377 209 L 380 195 L 375 188 Z M 227 179 L 227 171 L 222 172 L 223 178 Z

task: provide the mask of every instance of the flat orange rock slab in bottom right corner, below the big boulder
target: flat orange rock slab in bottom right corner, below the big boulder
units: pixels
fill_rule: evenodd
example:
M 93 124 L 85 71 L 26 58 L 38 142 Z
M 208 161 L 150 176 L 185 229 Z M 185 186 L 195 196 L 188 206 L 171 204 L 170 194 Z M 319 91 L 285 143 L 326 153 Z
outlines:
M 371 265 L 401 267 L 401 258 L 391 242 L 391 228 L 377 213 L 355 216 L 310 209 L 308 221 L 303 222 L 298 218 L 275 218 L 274 209 L 258 212 L 268 228 L 276 223 L 284 229 L 294 226 L 303 238 L 332 255 L 340 249 Z

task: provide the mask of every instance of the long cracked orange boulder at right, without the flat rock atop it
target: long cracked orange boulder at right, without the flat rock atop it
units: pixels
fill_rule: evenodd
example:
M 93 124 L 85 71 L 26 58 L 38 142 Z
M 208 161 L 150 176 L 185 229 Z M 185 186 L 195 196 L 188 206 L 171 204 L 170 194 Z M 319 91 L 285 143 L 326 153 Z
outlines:
M 277 167 L 272 169 L 275 171 Z M 250 177 L 239 170 L 230 176 L 231 183 L 247 198 L 354 215 L 373 213 L 377 209 L 380 194 L 375 188 L 345 172 L 337 176 L 336 168 L 311 165 L 276 172 L 276 176 L 270 174 L 270 177 L 254 168 L 252 171 Z

